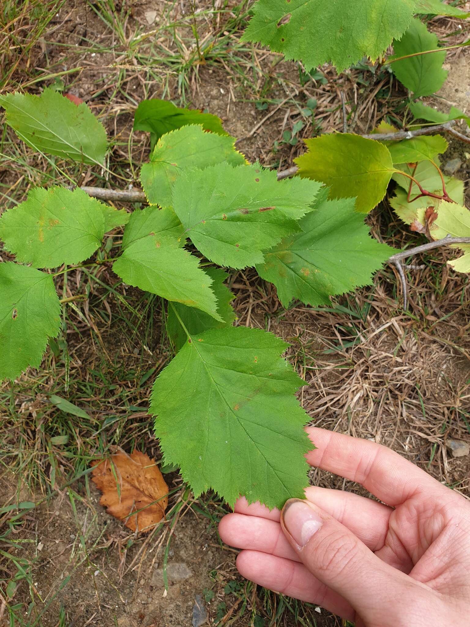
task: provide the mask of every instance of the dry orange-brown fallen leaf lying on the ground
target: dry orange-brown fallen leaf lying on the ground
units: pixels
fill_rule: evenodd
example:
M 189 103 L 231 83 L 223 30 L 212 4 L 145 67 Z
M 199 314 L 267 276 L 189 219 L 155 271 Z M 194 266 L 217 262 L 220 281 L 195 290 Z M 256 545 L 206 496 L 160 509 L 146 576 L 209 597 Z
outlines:
M 91 466 L 91 479 L 102 492 L 100 503 L 108 514 L 123 520 L 132 531 L 150 531 L 162 520 L 168 486 L 148 455 L 137 450 L 131 455 L 118 451 L 111 458 L 92 461 Z M 132 512 L 138 514 L 131 516 Z

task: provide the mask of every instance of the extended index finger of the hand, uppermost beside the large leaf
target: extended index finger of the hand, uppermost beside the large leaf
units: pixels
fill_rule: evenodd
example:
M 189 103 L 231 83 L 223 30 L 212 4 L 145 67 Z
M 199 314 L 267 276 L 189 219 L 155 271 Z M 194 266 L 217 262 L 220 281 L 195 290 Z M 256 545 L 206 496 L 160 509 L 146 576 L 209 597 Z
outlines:
M 395 507 L 417 494 L 449 495 L 449 488 L 386 446 L 318 427 L 306 432 L 316 446 L 306 455 L 311 466 L 360 483 L 387 505 Z

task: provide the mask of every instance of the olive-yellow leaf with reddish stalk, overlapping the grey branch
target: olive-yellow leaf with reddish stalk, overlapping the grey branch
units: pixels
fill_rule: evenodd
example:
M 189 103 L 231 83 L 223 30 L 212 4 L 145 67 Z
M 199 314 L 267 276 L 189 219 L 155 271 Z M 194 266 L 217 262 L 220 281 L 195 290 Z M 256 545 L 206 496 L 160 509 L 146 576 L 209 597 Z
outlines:
M 308 152 L 297 159 L 301 177 L 330 187 L 331 198 L 356 198 L 357 211 L 380 203 L 395 171 L 387 147 L 373 139 L 332 133 L 307 139 Z

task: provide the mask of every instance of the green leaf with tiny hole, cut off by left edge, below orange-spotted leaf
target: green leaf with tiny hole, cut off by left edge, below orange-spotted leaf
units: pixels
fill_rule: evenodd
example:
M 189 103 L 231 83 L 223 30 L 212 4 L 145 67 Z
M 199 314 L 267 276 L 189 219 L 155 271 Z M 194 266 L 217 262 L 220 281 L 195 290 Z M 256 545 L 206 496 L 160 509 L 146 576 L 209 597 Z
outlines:
M 48 337 L 60 331 L 60 301 L 51 275 L 0 263 L 0 380 L 41 365 Z

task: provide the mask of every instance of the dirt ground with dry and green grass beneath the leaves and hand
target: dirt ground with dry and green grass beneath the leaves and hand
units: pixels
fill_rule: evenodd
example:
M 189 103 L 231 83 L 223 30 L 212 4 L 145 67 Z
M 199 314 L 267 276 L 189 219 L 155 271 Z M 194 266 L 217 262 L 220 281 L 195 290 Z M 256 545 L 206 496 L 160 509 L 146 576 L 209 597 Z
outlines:
M 302 137 L 342 130 L 341 93 L 355 132 L 372 130 L 384 117 L 399 119 L 404 95 L 388 71 L 374 75 L 359 65 L 337 77 L 325 66 L 314 78 L 305 76 L 279 55 L 239 43 L 248 2 L 215 0 L 215 13 L 209 12 L 212 3 L 197 4 L 192 17 L 191 3 L 137 1 L 116 3 L 113 10 L 111 3 L 49 2 L 35 8 L 37 24 L 44 11 L 52 16 L 43 32 L 36 32 L 28 13 L 10 27 L 21 50 L 25 41 L 31 46 L 21 55 L 14 48 L 3 52 L 4 87 L 21 85 L 34 92 L 61 80 L 61 88 L 85 98 L 115 140 L 110 179 L 91 168 L 61 164 L 73 181 L 138 186 L 149 142 L 131 129 L 133 110 L 145 97 L 207 108 L 224 119 L 250 160 L 279 169 L 303 151 Z M 455 30 L 450 20 L 433 24 L 441 33 Z M 461 90 L 469 82 L 463 50 L 449 55 L 449 85 L 440 95 L 465 109 Z M 316 100 L 313 115 L 307 110 L 311 100 Z M 296 122 L 304 124 L 298 142 L 284 139 Z M 8 155 L 0 166 L 7 207 L 24 199 L 33 185 L 66 182 L 8 129 L 2 152 Z M 466 179 L 468 167 L 463 158 L 457 176 Z M 417 237 L 386 201 L 367 219 L 375 237 L 397 248 Z M 446 265 L 453 254 L 439 251 L 417 260 L 424 268 L 407 273 L 406 313 L 394 268 L 388 266 L 373 287 L 318 310 L 294 306 L 286 311 L 274 287 L 250 270 L 232 273 L 230 283 L 238 324 L 271 330 L 291 342 L 291 361 L 308 383 L 301 403 L 315 424 L 391 446 L 468 496 L 470 460 L 452 458 L 446 449 L 449 437 L 470 437 L 470 284 Z M 8 259 L 4 251 L 0 257 Z M 207 609 L 202 624 L 342 624 L 324 610 L 241 581 L 236 552 L 217 538 L 224 506 L 207 496 L 194 500 L 176 473 L 167 475 L 172 491 L 167 522 L 149 537 L 129 534 L 98 504 L 88 479 L 91 458 L 118 445 L 137 446 L 159 459 L 147 398 L 170 357 L 161 338 L 159 298 L 147 299 L 122 285 L 107 287 L 114 282 L 107 268 L 100 268 L 93 281 L 83 271 L 70 273 L 60 293 L 68 298 L 90 290 L 88 300 L 68 305 L 66 332 L 40 371 L 0 387 L 0 579 L 3 595 L 16 579 L 16 589 L 8 592 L 9 607 L 18 604 L 14 624 L 185 627 L 192 623 L 198 595 Z M 85 408 L 88 419 L 61 413 L 50 394 Z M 311 472 L 311 480 L 360 491 L 319 470 Z M 29 508 L 31 501 L 39 504 Z M 19 502 L 26 502 L 21 518 L 15 518 L 17 510 L 1 510 L 3 503 Z M 9 624 L 9 609 L 0 603 L 0 625 Z

